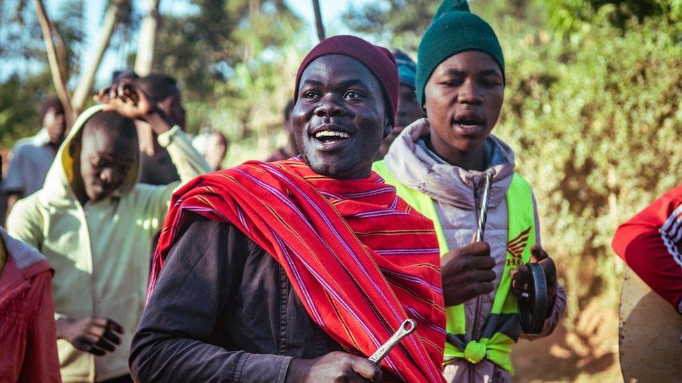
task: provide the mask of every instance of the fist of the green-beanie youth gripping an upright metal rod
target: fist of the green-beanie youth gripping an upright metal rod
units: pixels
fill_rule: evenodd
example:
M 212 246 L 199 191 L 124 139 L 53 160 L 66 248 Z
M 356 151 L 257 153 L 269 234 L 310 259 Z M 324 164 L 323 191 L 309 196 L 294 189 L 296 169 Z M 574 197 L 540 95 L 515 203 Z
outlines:
M 495 259 L 486 242 L 470 243 L 440 258 L 445 306 L 455 306 L 493 291 Z

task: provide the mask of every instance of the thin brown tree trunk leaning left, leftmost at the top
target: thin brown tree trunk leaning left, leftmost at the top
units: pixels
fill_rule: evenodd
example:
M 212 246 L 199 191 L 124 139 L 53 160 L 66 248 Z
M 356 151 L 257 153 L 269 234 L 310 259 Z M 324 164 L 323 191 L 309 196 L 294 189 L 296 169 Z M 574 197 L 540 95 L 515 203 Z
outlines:
M 71 109 L 71 95 L 68 93 L 66 87 L 66 62 L 59 62 L 57 58 L 57 50 L 55 50 L 55 43 L 52 41 L 52 31 L 55 27 L 50 22 L 48 14 L 45 12 L 42 0 L 34 0 L 36 12 L 38 13 L 38 22 L 41 24 L 41 31 L 43 32 L 43 41 L 45 42 L 45 50 L 48 53 L 48 63 L 50 63 L 50 73 L 52 73 L 52 82 L 55 84 L 55 91 L 57 97 L 64 106 L 64 117 L 66 117 L 66 126 L 71 127 L 75 121 L 75 114 Z

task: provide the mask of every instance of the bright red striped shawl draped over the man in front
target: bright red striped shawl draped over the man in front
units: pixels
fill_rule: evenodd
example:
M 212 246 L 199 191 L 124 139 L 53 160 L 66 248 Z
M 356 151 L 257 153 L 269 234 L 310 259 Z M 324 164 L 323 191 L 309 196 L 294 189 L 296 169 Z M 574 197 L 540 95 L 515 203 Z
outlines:
M 338 180 L 286 160 L 197 177 L 173 195 L 150 292 L 185 211 L 231 222 L 275 257 L 312 320 L 349 352 L 369 356 L 412 317 L 417 336 L 394 348 L 384 366 L 408 382 L 443 381 L 445 315 L 433 223 L 374 172 Z

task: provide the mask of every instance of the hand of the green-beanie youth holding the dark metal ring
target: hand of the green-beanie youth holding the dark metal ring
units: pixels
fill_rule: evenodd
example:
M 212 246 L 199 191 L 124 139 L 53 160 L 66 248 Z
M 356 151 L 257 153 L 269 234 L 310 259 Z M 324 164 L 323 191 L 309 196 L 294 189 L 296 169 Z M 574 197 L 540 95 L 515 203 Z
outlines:
M 547 252 L 539 245 L 533 245 L 530 248 L 530 254 L 530 262 L 539 263 L 542 265 L 542 269 L 544 269 L 544 275 L 547 279 L 547 315 L 549 316 L 554 307 L 554 299 L 556 298 L 556 265 Z M 509 271 L 509 274 L 512 276 L 512 294 L 517 299 L 521 299 L 523 292 L 528 292 L 531 301 L 535 299 L 532 274 L 528 266 L 522 264 L 518 266 L 518 269 Z

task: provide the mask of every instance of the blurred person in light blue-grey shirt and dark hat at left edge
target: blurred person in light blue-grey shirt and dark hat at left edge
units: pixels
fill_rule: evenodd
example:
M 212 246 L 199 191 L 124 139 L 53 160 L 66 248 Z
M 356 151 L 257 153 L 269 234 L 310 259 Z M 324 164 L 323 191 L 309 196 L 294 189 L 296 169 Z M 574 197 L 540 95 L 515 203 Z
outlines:
M 66 134 L 64 107 L 56 96 L 41 101 L 39 113 L 42 128 L 33 137 L 17 141 L 10 156 L 7 178 L 0 192 L 7 195 L 7 213 L 20 198 L 43 187 L 52 161 Z

